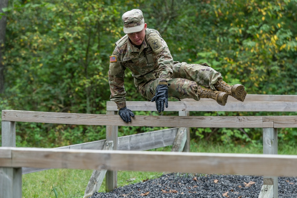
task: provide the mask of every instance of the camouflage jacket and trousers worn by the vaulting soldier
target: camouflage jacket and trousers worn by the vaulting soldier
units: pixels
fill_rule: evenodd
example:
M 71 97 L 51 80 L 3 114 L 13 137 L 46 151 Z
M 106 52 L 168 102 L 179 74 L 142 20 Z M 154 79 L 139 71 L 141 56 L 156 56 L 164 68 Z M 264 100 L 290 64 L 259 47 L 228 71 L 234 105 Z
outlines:
M 200 85 L 216 90 L 214 84 L 221 80 L 221 74 L 203 64 L 174 62 L 165 40 L 155 29 L 146 29 L 145 39 L 138 49 L 127 35 L 115 43 L 110 59 L 110 100 L 120 109 L 126 107 L 124 71 L 129 68 L 134 84 L 146 99 L 151 100 L 159 81 L 168 81 L 168 96 L 177 99 L 200 100 Z

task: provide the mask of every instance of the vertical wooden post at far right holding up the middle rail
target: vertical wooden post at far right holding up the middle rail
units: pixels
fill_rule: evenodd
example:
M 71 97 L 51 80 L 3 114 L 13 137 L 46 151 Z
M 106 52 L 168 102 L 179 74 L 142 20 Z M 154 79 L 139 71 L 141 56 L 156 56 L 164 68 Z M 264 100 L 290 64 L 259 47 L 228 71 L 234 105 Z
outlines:
M 277 128 L 263 128 L 263 154 L 277 154 Z M 278 177 L 264 175 L 263 185 L 273 185 L 274 198 L 278 198 Z

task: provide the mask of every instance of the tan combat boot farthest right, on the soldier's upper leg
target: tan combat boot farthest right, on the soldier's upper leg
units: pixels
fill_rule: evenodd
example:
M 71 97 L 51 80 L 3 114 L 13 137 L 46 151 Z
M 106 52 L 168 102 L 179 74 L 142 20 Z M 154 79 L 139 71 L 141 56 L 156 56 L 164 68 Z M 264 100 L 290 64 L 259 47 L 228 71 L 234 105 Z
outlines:
M 226 82 L 220 80 L 216 82 L 214 87 L 219 90 L 228 93 L 230 96 L 233 96 L 237 100 L 243 102 L 247 92 L 244 90 L 244 86 L 241 84 L 228 85 Z

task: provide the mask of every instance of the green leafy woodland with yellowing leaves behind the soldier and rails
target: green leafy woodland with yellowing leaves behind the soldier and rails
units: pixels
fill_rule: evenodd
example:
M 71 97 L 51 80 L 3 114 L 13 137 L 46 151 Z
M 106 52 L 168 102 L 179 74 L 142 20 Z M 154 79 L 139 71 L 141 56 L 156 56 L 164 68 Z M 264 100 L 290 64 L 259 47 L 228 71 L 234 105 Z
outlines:
M 121 15 L 134 8 L 143 11 L 148 28 L 161 33 L 174 60 L 206 62 L 229 84 L 244 84 L 249 94 L 296 94 L 296 0 L 12 0 L 4 9 L 5 91 L 0 109 L 105 114 L 108 57 L 124 35 Z M 128 101 L 145 101 L 129 71 L 125 89 Z M 191 115 L 255 114 L 263 112 Z M 18 146 L 53 147 L 105 138 L 104 126 L 17 123 L 16 129 Z M 157 129 L 121 127 L 119 135 Z M 261 129 L 205 128 L 192 129 L 191 136 L 230 144 L 261 141 L 261 134 Z M 279 141 L 291 144 L 294 138 L 296 129 L 279 130 Z

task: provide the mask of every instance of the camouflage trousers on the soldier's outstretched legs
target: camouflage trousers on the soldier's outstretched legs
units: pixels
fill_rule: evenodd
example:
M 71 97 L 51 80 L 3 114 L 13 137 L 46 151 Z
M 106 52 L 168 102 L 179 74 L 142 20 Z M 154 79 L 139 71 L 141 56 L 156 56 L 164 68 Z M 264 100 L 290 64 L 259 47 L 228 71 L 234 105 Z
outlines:
M 214 84 L 222 79 L 222 75 L 208 66 L 203 64 L 187 64 L 174 62 L 173 77 L 168 81 L 168 96 L 177 99 L 192 98 L 200 100 L 197 90 L 200 86 L 215 90 Z M 151 100 L 154 97 L 159 80 L 155 79 L 147 83 L 141 89 L 144 96 Z

